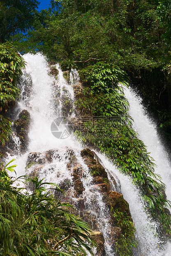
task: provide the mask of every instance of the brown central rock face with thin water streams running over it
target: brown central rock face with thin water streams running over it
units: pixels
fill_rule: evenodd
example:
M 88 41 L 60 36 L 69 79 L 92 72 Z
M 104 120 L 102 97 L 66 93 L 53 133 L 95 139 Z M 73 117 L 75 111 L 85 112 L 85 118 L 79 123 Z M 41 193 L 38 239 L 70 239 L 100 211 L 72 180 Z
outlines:
M 64 193 L 56 191 L 55 196 L 62 202 L 74 205 L 75 208 L 70 211 L 92 227 L 93 237 L 97 242 L 95 255 L 106 256 L 104 245 L 108 243 L 115 250 L 115 242 L 121 235 L 121 228 L 115 224 L 111 207 L 113 211 L 119 209 L 130 216 L 129 205 L 122 194 L 111 191 L 106 170 L 95 152 L 89 148 L 80 152 L 68 148 L 62 153 L 58 149 L 42 153 L 32 152 L 28 155 L 26 172 L 30 177 L 44 177 L 45 182 L 51 181 L 48 180 L 50 173 L 56 177 L 55 180 Z M 28 188 L 32 190 L 29 186 L 28 183 Z M 102 228 L 104 217 L 109 230 L 107 237 L 104 237 L 105 227 Z

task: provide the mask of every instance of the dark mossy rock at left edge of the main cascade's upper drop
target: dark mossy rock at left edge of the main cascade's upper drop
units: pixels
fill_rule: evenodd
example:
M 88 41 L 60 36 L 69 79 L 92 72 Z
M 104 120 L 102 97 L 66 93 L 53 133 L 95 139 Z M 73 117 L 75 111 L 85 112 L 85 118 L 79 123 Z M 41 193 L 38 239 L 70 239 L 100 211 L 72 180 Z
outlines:
M 17 119 L 14 123 L 16 135 L 19 137 L 19 140 L 21 142 L 20 147 L 21 147 L 22 153 L 25 153 L 28 149 L 29 127 L 30 127 L 30 113 L 24 109 L 19 114 L 19 119 Z

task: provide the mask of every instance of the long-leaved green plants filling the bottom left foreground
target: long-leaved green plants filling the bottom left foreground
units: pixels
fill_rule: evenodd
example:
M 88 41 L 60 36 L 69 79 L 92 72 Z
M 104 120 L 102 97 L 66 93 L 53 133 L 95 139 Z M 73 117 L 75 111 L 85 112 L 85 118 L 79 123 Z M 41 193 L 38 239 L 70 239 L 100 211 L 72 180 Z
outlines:
M 13 159 L 14 160 L 14 159 Z M 13 161 L 12 160 L 12 161 Z M 11 162 L 12 162 L 11 161 Z M 10 162 L 9 162 L 10 163 Z M 8 164 L 3 169 L 12 170 Z M 6 174 L 8 177 L 8 175 Z M 7 180 L 5 178 L 5 180 Z M 92 253 L 95 242 L 90 227 L 80 218 L 69 213 L 73 207 L 60 203 L 51 190 L 47 191 L 42 180 L 28 179 L 33 191 L 11 187 L 0 179 L 0 255 L 86 255 Z M 25 180 L 27 182 L 27 180 Z M 53 188 L 53 190 L 60 190 Z M 62 192 L 62 190 L 60 190 Z

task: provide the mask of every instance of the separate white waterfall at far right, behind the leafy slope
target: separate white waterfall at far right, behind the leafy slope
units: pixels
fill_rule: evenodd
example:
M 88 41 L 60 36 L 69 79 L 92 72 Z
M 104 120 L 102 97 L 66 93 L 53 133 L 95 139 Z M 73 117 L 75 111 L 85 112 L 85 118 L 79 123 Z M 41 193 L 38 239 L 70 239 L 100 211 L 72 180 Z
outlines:
M 155 173 L 161 176 L 162 182 L 166 185 L 166 197 L 168 200 L 171 200 L 171 166 L 169 164 L 167 152 L 157 135 L 156 124 L 146 114 L 141 103 L 141 97 L 138 97 L 130 88 L 125 88 L 124 93 L 129 102 L 129 115 L 134 120 L 133 128 L 139 134 L 139 139 L 146 145 L 147 151 L 150 152 L 150 156 L 154 159 L 154 162 L 157 165 Z M 164 251 L 164 254 L 162 255 L 169 256 L 170 249 L 171 243 L 169 242 L 166 246 L 166 251 Z

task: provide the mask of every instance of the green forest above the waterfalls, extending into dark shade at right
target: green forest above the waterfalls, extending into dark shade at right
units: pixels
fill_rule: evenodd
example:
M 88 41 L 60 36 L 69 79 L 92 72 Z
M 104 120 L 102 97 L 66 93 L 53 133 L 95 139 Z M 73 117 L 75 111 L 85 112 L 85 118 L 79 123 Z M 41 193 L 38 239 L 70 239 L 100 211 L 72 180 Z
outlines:
M 170 11 L 167 0 L 51 0 L 34 30 L 13 40 L 68 67 L 104 61 L 124 69 L 171 138 Z

